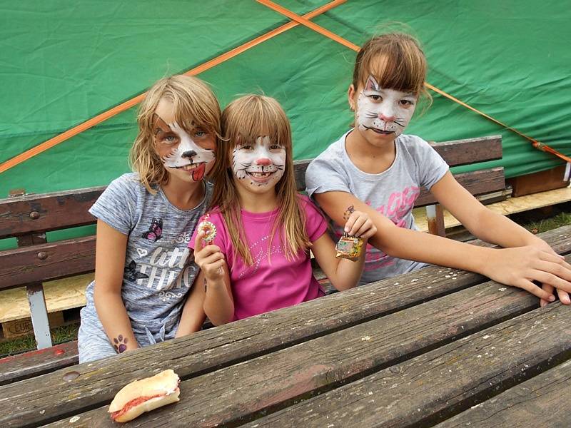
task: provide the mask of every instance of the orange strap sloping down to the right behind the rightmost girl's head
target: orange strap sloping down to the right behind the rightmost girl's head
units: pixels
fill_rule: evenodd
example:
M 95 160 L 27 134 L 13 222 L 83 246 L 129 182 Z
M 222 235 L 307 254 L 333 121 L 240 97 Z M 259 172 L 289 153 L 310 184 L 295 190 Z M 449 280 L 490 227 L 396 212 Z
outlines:
M 293 19 L 293 21 L 297 21 L 300 24 L 303 24 L 304 26 L 308 27 L 309 29 L 312 29 L 313 31 L 317 31 L 319 34 L 321 34 L 325 37 L 328 37 L 329 39 L 332 39 L 332 40 L 342 44 L 343 46 L 347 46 L 349 49 L 353 49 L 353 51 L 358 52 L 360 49 L 359 46 L 352 44 L 348 40 L 343 39 L 343 37 L 340 37 L 337 34 L 334 34 L 331 31 L 324 29 L 322 26 L 318 26 L 317 24 L 314 24 L 313 22 L 308 21 L 303 16 L 299 16 L 297 14 L 294 14 L 292 11 L 285 9 L 283 6 L 280 6 L 279 4 L 273 3 L 273 1 L 270 1 L 270 0 L 257 0 L 257 1 L 258 1 L 258 3 L 261 3 L 264 6 L 268 6 L 270 9 L 273 9 L 274 11 L 276 11 L 278 13 L 287 16 L 289 19 Z M 481 116 L 484 116 L 485 118 L 489 119 L 490 121 L 492 121 L 494 123 L 497 123 L 500 126 L 503 126 L 504 128 L 506 128 L 509 131 L 517 133 L 517 135 L 522 136 L 523 138 L 531 141 L 532 146 L 537 148 L 538 150 L 545 151 L 547 153 L 552 153 L 553 155 L 557 156 L 558 158 L 561 158 L 563 161 L 571 162 L 571 158 L 569 156 L 565 156 L 564 154 L 556 151 L 554 148 L 547 146 L 547 144 L 540 143 L 540 141 L 535 140 L 535 138 L 531 138 L 530 136 L 526 136 L 525 133 L 517 131 L 517 129 L 512 128 L 511 126 L 507 126 L 505 123 L 500 122 L 495 118 L 492 118 L 492 116 L 489 116 L 480 110 L 477 110 L 477 108 L 469 106 L 467 103 L 460 101 L 458 98 L 451 96 L 449 93 L 446 93 L 442 89 L 436 88 L 435 86 L 431 85 L 430 83 L 425 82 L 424 85 L 427 88 L 432 89 L 436 93 L 439 93 L 440 95 L 444 96 L 445 98 L 448 98 L 448 99 L 454 101 L 455 103 L 458 103 L 461 106 L 464 106 L 465 108 L 469 108 L 471 111 L 474 111 L 475 113 L 478 113 Z

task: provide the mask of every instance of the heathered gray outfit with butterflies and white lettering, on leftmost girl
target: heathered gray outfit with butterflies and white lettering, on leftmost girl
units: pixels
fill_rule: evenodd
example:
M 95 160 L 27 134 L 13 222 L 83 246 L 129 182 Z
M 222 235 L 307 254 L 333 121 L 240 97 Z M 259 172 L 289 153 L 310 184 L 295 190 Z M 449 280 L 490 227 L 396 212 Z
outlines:
M 212 185 L 207 183 L 196 208 L 179 210 L 160 188 L 152 195 L 138 174 L 128 173 L 113 180 L 89 210 L 128 235 L 121 296 L 141 346 L 175 335 L 186 293 L 198 272 L 187 245 L 211 195 Z M 103 331 L 93 292 L 91 282 L 86 290 L 87 305 L 81 311 L 80 353 L 86 349 L 82 345 Z

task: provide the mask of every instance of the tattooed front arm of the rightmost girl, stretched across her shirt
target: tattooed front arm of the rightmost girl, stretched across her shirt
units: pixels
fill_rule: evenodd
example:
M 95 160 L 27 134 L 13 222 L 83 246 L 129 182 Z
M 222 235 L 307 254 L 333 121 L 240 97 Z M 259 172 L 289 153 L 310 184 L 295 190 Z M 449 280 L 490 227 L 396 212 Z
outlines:
M 566 280 L 571 280 L 571 266 L 559 256 L 537 247 L 485 248 L 398 228 L 384 215 L 347 192 L 315 193 L 315 200 L 338 225 L 344 224 L 343 212 L 348 205 L 368 213 L 377 228 L 377 233 L 369 242 L 393 257 L 479 272 L 492 280 L 520 287 L 550 302 L 555 297 L 537 287 L 532 280 L 571 292 L 571 283 Z

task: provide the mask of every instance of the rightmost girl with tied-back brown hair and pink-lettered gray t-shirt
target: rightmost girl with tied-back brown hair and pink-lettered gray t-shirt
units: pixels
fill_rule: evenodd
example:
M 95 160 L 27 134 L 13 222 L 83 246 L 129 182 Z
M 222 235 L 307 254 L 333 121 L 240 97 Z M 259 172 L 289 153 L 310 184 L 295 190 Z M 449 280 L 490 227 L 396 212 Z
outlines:
M 338 230 L 343 228 L 340 213 L 348 205 L 369 213 L 378 232 L 370 238 L 363 283 L 434 263 L 520 287 L 540 297 L 542 306 L 555 300 L 555 287 L 561 302 L 569 305 L 571 266 L 565 259 L 509 218 L 485 208 L 458 184 L 426 141 L 403 133 L 428 95 L 426 69 L 418 41 L 407 34 L 383 34 L 363 45 L 348 90 L 355 127 L 310 163 L 305 173 L 308 195 Z M 504 248 L 419 233 L 412 210 L 421 187 L 471 233 Z

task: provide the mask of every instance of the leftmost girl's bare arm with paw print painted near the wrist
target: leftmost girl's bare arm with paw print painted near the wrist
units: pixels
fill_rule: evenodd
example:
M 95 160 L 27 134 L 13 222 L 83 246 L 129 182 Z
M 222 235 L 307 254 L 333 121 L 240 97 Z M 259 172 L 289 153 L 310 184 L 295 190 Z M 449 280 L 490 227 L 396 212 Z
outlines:
M 97 220 L 94 302 L 103 330 L 118 353 L 138 348 L 121 298 L 127 235 Z

